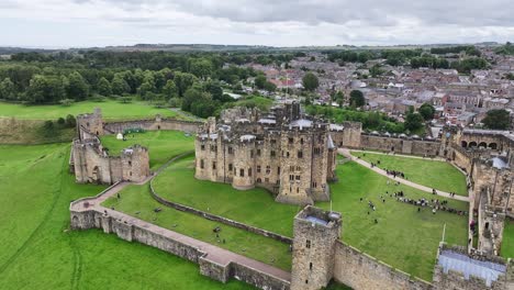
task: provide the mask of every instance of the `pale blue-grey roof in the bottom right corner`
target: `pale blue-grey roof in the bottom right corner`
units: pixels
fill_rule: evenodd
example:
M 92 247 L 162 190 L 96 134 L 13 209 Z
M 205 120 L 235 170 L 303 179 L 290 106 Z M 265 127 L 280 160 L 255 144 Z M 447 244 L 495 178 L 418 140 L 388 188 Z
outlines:
M 506 272 L 506 265 L 473 259 L 448 249 L 440 252 L 437 263 L 443 267 L 445 274 L 448 274 L 448 270 L 454 270 L 461 272 L 466 279 L 469 279 L 469 276 L 479 277 L 485 280 L 488 287 L 491 286 L 492 281 L 496 281 L 500 275 Z

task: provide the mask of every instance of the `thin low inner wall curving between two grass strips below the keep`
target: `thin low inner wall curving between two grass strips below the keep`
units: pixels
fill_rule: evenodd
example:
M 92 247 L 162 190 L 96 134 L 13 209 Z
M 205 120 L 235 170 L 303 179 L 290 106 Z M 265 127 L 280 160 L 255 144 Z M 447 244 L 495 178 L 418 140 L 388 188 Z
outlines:
M 211 220 L 211 221 L 220 222 L 222 224 L 226 224 L 226 225 L 230 225 L 230 226 L 234 226 L 234 227 L 237 227 L 237 228 L 245 230 L 245 231 L 254 233 L 254 234 L 270 237 L 270 238 L 277 239 L 277 241 L 279 241 L 281 243 L 284 243 L 284 244 L 289 244 L 289 245 L 292 244 L 292 238 L 290 238 L 290 237 L 287 237 L 287 236 L 280 235 L 280 234 L 276 234 L 273 232 L 269 232 L 269 231 L 266 231 L 266 230 L 262 230 L 262 228 L 259 228 L 259 227 L 255 227 L 255 226 L 252 226 L 252 225 L 247 225 L 247 224 L 244 224 L 244 223 L 239 223 L 237 221 L 233 221 L 233 220 L 230 220 L 230 219 L 226 219 L 226 217 L 223 217 L 223 216 L 220 216 L 220 215 L 215 215 L 215 214 L 212 214 L 212 213 L 209 213 L 209 212 L 200 211 L 200 210 L 197 210 L 197 209 L 193 209 L 191 207 L 187 207 L 187 205 L 183 205 L 183 204 L 180 204 L 180 203 L 177 203 L 177 202 L 166 200 L 166 199 L 159 197 L 155 192 L 154 187 L 152 186 L 152 183 L 150 183 L 150 193 L 152 193 L 152 197 L 156 201 L 158 201 L 159 203 L 161 203 L 161 204 L 164 204 L 166 207 L 170 207 L 170 208 L 174 208 L 176 210 L 183 211 L 183 212 L 189 212 L 189 213 L 199 215 L 201 217 L 204 217 L 204 219 L 208 219 L 208 220 Z

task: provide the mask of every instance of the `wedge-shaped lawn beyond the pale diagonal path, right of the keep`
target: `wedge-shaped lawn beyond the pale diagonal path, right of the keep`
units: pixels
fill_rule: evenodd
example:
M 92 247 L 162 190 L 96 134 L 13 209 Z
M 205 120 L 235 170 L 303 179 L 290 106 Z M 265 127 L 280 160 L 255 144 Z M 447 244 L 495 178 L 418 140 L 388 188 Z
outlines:
M 353 152 L 351 155 L 358 156 L 368 163 L 377 164 L 380 160 L 378 167 L 402 171 L 413 182 L 446 192 L 455 192 L 459 196 L 468 196 L 466 177 L 448 163 L 369 152 Z

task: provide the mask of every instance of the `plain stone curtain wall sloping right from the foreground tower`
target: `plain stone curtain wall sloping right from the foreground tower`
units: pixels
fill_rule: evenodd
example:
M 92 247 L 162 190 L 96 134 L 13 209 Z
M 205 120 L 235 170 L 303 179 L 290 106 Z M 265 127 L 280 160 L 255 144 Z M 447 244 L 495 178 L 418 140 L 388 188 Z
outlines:
M 334 279 L 355 290 L 433 289 L 429 282 L 412 278 L 340 241 L 336 243 Z

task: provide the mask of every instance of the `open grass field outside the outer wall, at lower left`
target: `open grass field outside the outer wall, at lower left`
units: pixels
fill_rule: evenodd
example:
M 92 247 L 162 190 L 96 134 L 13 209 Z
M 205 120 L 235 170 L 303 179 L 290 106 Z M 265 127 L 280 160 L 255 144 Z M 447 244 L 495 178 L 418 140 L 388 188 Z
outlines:
M 69 232 L 69 202 L 103 187 L 74 182 L 69 145 L 0 146 L 0 289 L 253 289 L 100 230 Z

